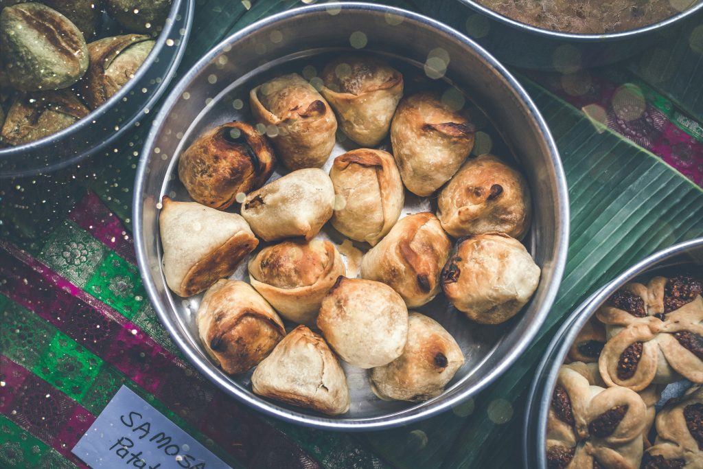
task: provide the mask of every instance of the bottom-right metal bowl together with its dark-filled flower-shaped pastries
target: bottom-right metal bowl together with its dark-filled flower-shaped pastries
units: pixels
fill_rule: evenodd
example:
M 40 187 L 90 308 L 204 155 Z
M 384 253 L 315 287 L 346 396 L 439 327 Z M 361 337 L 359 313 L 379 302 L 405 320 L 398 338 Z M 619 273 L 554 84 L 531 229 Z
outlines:
M 703 468 L 703 239 L 605 285 L 557 333 L 531 390 L 535 468 Z

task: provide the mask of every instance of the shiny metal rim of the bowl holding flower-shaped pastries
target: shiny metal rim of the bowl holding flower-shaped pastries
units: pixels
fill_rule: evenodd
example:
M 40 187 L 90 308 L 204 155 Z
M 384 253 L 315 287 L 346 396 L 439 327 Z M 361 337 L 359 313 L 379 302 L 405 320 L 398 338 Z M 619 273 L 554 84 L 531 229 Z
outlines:
M 654 252 L 652 255 L 645 257 L 640 262 L 634 264 L 622 274 L 612 279 L 612 281 L 605 283 L 605 285 L 593 293 L 591 297 L 588 297 L 586 301 L 581 303 L 581 305 L 565 319 L 546 348 L 543 359 L 540 361 L 536 370 L 534 381 L 529 388 L 529 397 L 524 413 L 524 432 L 522 439 L 524 445 L 522 453 L 527 467 L 529 467 L 530 462 L 535 459 L 537 461 L 537 467 L 547 467 L 546 451 L 542 449 L 546 446 L 547 416 L 552 390 L 556 383 L 557 374 L 559 373 L 561 365 L 569 352 L 569 348 L 571 348 L 572 343 L 576 339 L 576 335 L 579 334 L 583 325 L 591 319 L 596 309 L 622 285 L 632 281 L 632 279 L 637 276 L 645 274 L 652 269 L 652 267 L 656 266 L 656 264 L 694 249 L 703 249 L 703 238 L 693 238 Z M 557 366 L 557 364 L 559 366 Z M 548 372 L 546 372 L 547 369 Z M 536 422 L 534 419 L 530 418 L 531 414 L 534 413 L 535 405 L 538 406 Z M 534 425 L 538 426 L 535 428 Z M 529 428 L 536 430 L 536 441 L 529 441 L 529 431 L 527 431 Z M 535 446 L 529 447 L 532 443 L 534 443 Z M 536 458 L 529 458 L 531 451 L 536 451 Z

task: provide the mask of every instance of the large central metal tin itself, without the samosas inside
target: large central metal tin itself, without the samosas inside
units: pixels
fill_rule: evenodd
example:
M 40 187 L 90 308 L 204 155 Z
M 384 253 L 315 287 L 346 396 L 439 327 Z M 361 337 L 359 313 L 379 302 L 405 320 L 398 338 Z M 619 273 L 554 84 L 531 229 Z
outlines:
M 431 82 L 427 72 L 437 78 L 437 86 L 453 83 L 473 98 L 474 120 L 482 120 L 477 125 L 494 137 L 496 152 L 517 155 L 516 164 L 531 186 L 534 221 L 524 243 L 541 266 L 542 277 L 530 304 L 500 327 L 470 323 L 447 307 L 446 300 L 435 300 L 420 309 L 454 335 L 467 360 L 440 397 L 420 404 L 381 401 L 370 392 L 366 371 L 342 364 L 352 407 L 349 413 L 330 418 L 262 399 L 250 390 L 250 374 L 228 376 L 212 364 L 200 345 L 194 321 L 199 297 L 176 297 L 165 284 L 157 217 L 162 195 L 189 200 L 176 174 L 181 149 L 203 129 L 229 120 L 251 121 L 245 103 L 255 84 L 284 71 L 297 71 L 314 80 L 314 65 L 321 70 L 325 58 L 353 52 L 354 48 L 381 55 L 404 70 L 408 87 L 415 82 L 408 70 L 418 72 L 415 78 Z M 428 56 L 443 58 L 444 63 L 449 60 L 444 77 L 437 77 L 441 68 L 437 60 L 429 60 L 430 65 L 435 63 L 433 70 L 423 67 Z M 486 119 L 479 119 L 483 115 Z M 492 126 L 503 129 L 502 137 L 490 130 Z M 497 150 L 499 144 L 502 150 Z M 337 143 L 332 157 L 344 151 Z M 404 214 L 430 208 L 429 200 L 417 199 L 408 196 Z M 307 6 L 274 15 L 207 53 L 181 79 L 156 117 L 138 167 L 133 219 L 143 283 L 161 321 L 188 359 L 209 380 L 254 409 L 335 430 L 387 428 L 426 418 L 456 406 L 501 375 L 522 354 L 553 303 L 565 265 L 569 223 L 565 176 L 553 139 L 510 73 L 470 39 L 430 18 L 387 6 L 354 3 Z M 328 231 L 323 236 L 337 241 Z M 233 278 L 247 278 L 245 264 L 240 264 Z

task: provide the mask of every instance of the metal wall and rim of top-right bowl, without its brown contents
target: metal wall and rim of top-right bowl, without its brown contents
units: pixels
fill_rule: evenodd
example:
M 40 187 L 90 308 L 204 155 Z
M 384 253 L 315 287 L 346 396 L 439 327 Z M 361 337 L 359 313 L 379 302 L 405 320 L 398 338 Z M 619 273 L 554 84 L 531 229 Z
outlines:
M 484 15 L 488 23 L 476 24 L 476 41 L 505 63 L 535 70 L 573 71 L 609 65 L 661 41 L 674 25 L 703 12 L 703 1 L 653 25 L 609 34 L 572 34 L 520 23 L 479 4 L 459 0 Z M 703 13 L 702 13 L 703 15 Z M 701 20 L 702 15 L 697 15 Z M 471 29 L 471 28 L 470 28 Z M 470 31 L 471 32 L 471 31 Z

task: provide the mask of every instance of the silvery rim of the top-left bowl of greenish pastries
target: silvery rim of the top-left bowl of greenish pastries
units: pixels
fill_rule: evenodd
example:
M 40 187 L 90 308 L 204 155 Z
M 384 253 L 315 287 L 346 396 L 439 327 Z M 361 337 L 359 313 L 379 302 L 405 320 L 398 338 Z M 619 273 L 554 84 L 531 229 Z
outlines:
M 93 148 L 90 148 L 87 151 L 84 151 L 82 153 L 77 153 L 76 155 L 72 155 L 70 158 L 65 158 L 65 160 L 62 160 L 60 162 L 57 162 L 56 164 L 49 165 L 49 170 L 50 171 L 56 171 L 58 169 L 63 169 L 67 166 L 73 165 L 75 162 L 78 162 L 79 160 L 82 160 L 86 155 L 89 153 L 93 152 L 95 148 L 102 147 L 105 145 L 110 144 L 112 141 L 115 141 L 118 136 L 122 135 L 122 132 L 126 129 L 129 129 L 136 120 L 139 120 L 143 115 L 146 115 L 144 110 L 148 109 L 149 105 L 153 105 L 156 103 L 159 98 L 162 96 L 162 94 L 165 93 L 169 82 L 171 82 L 172 78 L 174 77 L 174 74 L 176 73 L 176 69 L 178 68 L 179 64 L 181 63 L 181 60 L 183 59 L 183 55 L 186 51 L 186 44 L 188 44 L 188 37 L 190 37 L 191 34 L 191 27 L 193 26 L 193 15 L 195 11 L 195 0 L 173 0 L 173 4 L 171 6 L 171 11 L 164 23 L 164 27 L 161 30 L 161 32 L 158 34 L 156 37 L 155 41 L 156 43 L 154 44 L 153 49 L 149 52 L 149 55 L 147 56 L 145 63 L 148 60 L 152 60 L 154 58 L 158 58 L 160 56 L 161 51 L 164 49 L 166 46 L 166 41 L 169 39 L 169 36 L 172 34 L 174 27 L 178 23 L 178 20 L 176 20 L 176 17 L 181 14 L 181 6 L 186 5 L 186 11 L 185 11 L 185 22 L 183 23 L 183 34 L 181 34 L 181 39 L 179 44 L 174 44 L 174 47 L 178 48 L 178 51 L 176 51 L 176 56 L 174 57 L 174 61 L 172 62 L 171 65 L 169 65 L 169 68 L 167 72 L 164 74 L 163 77 L 161 77 L 162 81 L 159 86 L 155 89 L 154 93 L 150 96 L 150 98 L 144 103 L 141 108 L 138 110 L 137 113 L 135 113 L 133 116 L 130 117 L 129 121 L 124 122 L 122 125 L 120 125 L 120 129 L 116 130 L 114 133 L 110 134 L 108 138 L 106 138 L 104 141 L 101 141 L 98 145 L 96 145 Z M 180 33 L 180 31 L 179 31 Z M 96 39 L 97 40 L 97 39 Z M 92 42 L 92 41 L 91 41 Z M 171 46 L 169 46 L 171 47 Z M 21 157 L 25 152 L 28 150 L 37 150 L 37 148 L 41 147 L 48 147 L 51 146 L 51 144 L 56 144 L 60 143 L 63 139 L 65 139 L 67 136 L 70 134 L 74 133 L 80 133 L 84 131 L 89 131 L 89 126 L 93 123 L 93 121 L 97 120 L 99 117 L 107 114 L 108 112 L 112 111 L 119 103 L 122 101 L 122 98 L 127 96 L 127 94 L 130 91 L 134 91 L 132 88 L 135 83 L 137 83 L 141 78 L 146 75 L 148 72 L 149 67 L 139 67 L 136 74 L 134 77 L 130 79 L 130 81 L 125 85 L 122 86 L 122 88 L 117 91 L 114 95 L 110 96 L 108 101 L 105 101 L 102 105 L 98 106 L 97 108 L 91 110 L 91 112 L 86 115 L 86 117 L 83 117 L 82 119 L 77 120 L 75 123 L 71 124 L 70 126 L 66 127 L 65 129 L 61 129 L 60 131 L 47 135 L 45 137 L 42 137 L 41 139 L 31 141 L 29 143 L 24 143 L 22 145 L 18 146 L 11 146 L 8 148 L 0 148 L 0 160 L 12 160 L 13 158 L 18 158 Z M 49 90 L 49 91 L 61 91 L 61 90 Z M 43 172 L 46 168 L 41 168 L 39 169 L 39 172 Z M 11 172 L 1 172 L 0 178 L 2 177 L 15 177 L 15 176 L 25 176 L 29 174 L 36 174 L 37 169 L 20 169 L 19 171 L 11 171 Z

